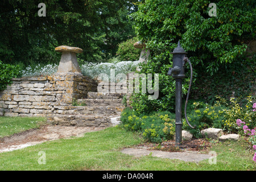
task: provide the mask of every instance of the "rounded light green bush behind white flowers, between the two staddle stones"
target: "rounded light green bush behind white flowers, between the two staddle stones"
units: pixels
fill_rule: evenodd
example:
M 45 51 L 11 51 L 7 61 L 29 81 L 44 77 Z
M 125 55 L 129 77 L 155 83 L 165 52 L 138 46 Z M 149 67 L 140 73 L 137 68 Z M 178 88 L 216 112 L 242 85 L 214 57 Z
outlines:
M 121 61 L 136 61 L 139 60 L 141 49 L 135 48 L 133 44 L 138 42 L 138 38 L 132 38 L 118 44 L 116 55 Z

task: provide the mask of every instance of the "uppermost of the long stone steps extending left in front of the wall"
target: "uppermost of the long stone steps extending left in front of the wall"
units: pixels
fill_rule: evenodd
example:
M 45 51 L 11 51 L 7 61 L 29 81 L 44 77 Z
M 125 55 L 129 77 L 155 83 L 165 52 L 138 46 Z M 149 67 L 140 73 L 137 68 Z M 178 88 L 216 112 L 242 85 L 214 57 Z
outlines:
M 55 114 L 121 114 L 125 106 L 54 106 Z

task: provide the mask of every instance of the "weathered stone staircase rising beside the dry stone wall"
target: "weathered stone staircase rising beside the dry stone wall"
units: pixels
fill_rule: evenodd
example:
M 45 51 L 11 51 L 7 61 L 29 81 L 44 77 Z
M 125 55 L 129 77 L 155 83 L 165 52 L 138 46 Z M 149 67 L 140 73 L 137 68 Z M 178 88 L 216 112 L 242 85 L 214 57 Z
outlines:
M 117 125 L 125 106 L 123 93 L 88 92 L 87 98 L 77 100 L 82 106 L 54 106 L 47 117 L 52 125 L 108 127 Z

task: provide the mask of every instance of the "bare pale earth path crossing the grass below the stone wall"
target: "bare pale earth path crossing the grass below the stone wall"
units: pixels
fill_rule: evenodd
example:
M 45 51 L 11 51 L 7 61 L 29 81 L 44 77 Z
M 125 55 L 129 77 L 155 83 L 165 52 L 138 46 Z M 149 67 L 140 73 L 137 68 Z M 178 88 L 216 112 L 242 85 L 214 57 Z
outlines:
M 68 137 L 82 137 L 85 133 L 100 131 L 105 127 L 78 127 L 46 125 L 40 129 L 23 131 L 10 137 L 0 138 L 0 153 L 25 148 L 49 140 Z

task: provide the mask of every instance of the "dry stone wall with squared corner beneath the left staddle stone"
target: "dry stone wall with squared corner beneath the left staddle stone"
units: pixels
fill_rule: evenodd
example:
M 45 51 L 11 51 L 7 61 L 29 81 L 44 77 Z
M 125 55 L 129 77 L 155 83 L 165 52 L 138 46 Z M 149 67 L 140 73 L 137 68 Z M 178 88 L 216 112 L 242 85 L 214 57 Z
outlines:
M 13 78 L 13 84 L 0 91 L 0 116 L 45 117 L 96 91 L 97 83 L 81 73 Z

